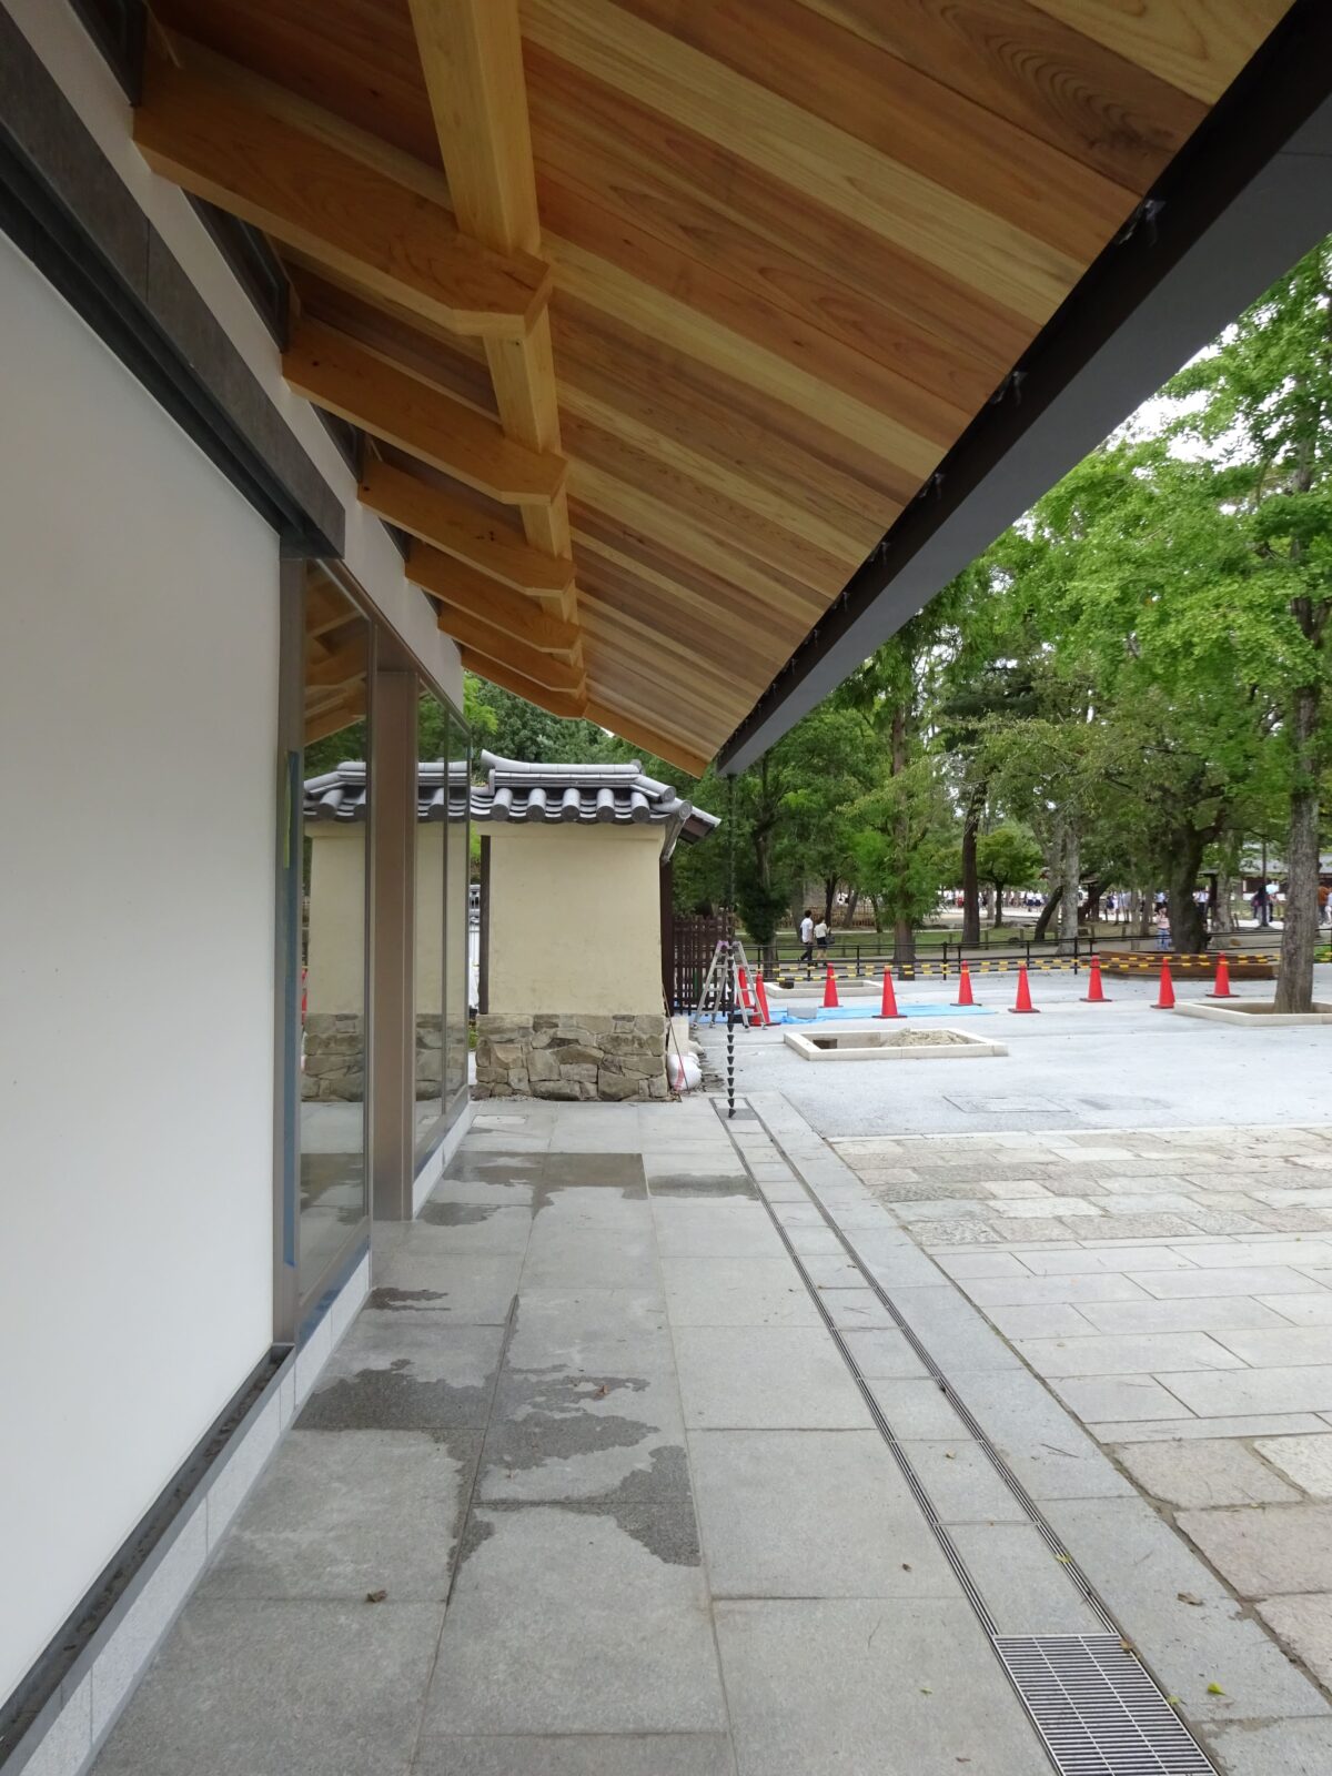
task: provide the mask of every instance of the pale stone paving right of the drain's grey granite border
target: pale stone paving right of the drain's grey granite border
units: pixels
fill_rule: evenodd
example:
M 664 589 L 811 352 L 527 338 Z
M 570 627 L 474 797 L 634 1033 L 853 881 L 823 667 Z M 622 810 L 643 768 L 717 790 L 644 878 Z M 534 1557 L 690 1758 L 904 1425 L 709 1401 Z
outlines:
M 955 1137 L 835 1147 L 1162 1517 L 1332 1687 L 1332 1130 L 1028 1135 L 1023 1167 L 1050 1204 L 1064 1204 L 1062 1225 L 1000 1252 L 954 1247 L 932 1217 L 957 1201 L 970 1153 L 968 1213 L 975 1220 L 980 1202 L 979 1220 L 1002 1238 L 1014 1199 L 987 1183 L 989 1153 L 1011 1147 Z M 909 1199 L 904 1165 L 918 1179 Z M 1098 1218 L 1069 1217 L 1074 1192 Z M 1138 1231 L 1137 1215 L 1119 1211 L 1146 1209 L 1144 1192 L 1160 1197 L 1154 1208 L 1169 1193 L 1179 1238 L 1121 1236 Z M 1238 1217 L 1233 1234 L 1215 1233 L 1222 1215 Z

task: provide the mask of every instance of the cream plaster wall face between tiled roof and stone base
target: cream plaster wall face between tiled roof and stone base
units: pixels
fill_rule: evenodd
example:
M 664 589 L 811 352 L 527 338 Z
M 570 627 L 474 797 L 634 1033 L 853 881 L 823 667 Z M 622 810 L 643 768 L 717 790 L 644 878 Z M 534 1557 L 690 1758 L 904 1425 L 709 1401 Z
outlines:
M 661 828 L 488 821 L 492 1012 L 661 1011 Z

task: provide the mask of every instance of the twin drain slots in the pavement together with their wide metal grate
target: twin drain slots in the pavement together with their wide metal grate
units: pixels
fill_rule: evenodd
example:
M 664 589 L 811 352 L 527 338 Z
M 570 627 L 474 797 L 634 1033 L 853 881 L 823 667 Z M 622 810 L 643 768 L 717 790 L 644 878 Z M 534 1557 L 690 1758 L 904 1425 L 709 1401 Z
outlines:
M 925 1366 L 925 1371 L 938 1384 L 950 1407 L 966 1426 L 970 1437 L 984 1449 L 995 1472 L 1005 1483 L 1014 1499 L 1021 1504 L 1032 1527 L 1041 1534 L 1046 1547 L 1055 1554 L 1069 1582 L 1082 1595 L 1087 1607 L 1105 1623 L 1105 1634 L 1000 1634 L 989 1613 L 984 1595 L 971 1577 L 966 1561 L 959 1554 L 947 1526 L 940 1518 L 934 1501 L 924 1481 L 911 1465 L 911 1460 L 897 1440 L 897 1433 L 888 1423 L 879 1401 L 874 1398 L 865 1376 L 860 1373 L 856 1359 L 833 1323 L 833 1316 L 824 1304 L 819 1288 L 805 1266 L 799 1252 L 790 1241 L 787 1227 L 778 1220 L 773 1204 L 767 1201 L 764 1186 L 755 1181 L 758 1199 L 767 1209 L 767 1217 L 778 1233 L 787 1257 L 799 1272 L 819 1316 L 824 1321 L 833 1343 L 842 1353 L 842 1360 L 851 1371 L 851 1378 L 860 1389 L 870 1417 L 879 1435 L 888 1444 L 902 1478 L 906 1479 L 925 1522 L 929 1524 L 940 1549 L 957 1575 L 966 1600 L 975 1611 L 980 1625 L 989 1636 L 995 1657 L 1012 1684 L 1018 1700 L 1030 1716 L 1032 1726 L 1044 1746 L 1050 1762 L 1060 1776 L 1217 1776 L 1215 1765 L 1174 1712 L 1163 1693 L 1146 1669 L 1142 1661 L 1124 1637 L 1114 1614 L 1092 1588 L 1090 1579 L 1082 1572 L 1067 1552 L 1053 1527 L 1046 1522 L 1039 1506 L 1012 1472 L 1009 1463 L 989 1440 L 980 1423 L 970 1408 L 952 1391 L 948 1376 L 920 1343 L 909 1321 L 902 1316 L 893 1298 L 877 1279 L 861 1265 L 851 1240 L 842 1233 L 833 1217 L 805 1183 L 799 1163 L 783 1149 L 781 1140 L 764 1122 L 751 1106 L 744 1117 L 762 1128 L 774 1151 L 781 1154 L 792 1174 L 799 1177 L 810 1202 L 819 1209 L 826 1227 L 835 1234 L 847 1259 L 865 1279 L 876 1298 L 892 1316 L 913 1352 Z M 718 1112 L 721 1115 L 721 1110 Z M 721 1115 L 725 1122 L 726 1117 Z M 741 1162 L 749 1170 L 749 1156 L 733 1142 Z M 749 1170 L 753 1177 L 753 1172 Z

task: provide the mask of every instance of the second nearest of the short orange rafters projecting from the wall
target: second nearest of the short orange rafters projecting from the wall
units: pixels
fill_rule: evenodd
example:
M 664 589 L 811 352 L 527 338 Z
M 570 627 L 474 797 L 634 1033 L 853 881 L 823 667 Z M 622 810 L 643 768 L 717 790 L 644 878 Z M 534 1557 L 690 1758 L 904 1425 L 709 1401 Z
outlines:
M 563 456 L 527 449 L 494 419 L 323 321 L 302 320 L 282 355 L 282 375 L 325 412 L 504 504 L 549 504 L 565 485 Z

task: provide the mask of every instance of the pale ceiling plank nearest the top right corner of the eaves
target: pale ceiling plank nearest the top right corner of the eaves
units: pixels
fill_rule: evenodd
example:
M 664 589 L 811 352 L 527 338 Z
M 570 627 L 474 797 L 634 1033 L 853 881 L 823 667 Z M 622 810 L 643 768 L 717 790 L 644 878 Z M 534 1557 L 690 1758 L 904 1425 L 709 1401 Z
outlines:
M 1032 0 L 1032 5 L 1190 98 L 1215 105 L 1289 12 L 1291 0 L 1170 0 L 1131 7 Z

